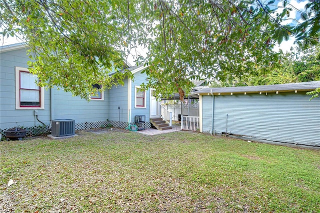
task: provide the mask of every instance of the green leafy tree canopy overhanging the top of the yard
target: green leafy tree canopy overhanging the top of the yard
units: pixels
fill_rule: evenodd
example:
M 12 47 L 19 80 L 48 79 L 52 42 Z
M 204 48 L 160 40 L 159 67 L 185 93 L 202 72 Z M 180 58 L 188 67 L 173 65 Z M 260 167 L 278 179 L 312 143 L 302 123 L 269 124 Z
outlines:
M 92 84 L 105 89 L 132 77 L 120 70 L 133 54 L 148 66 L 143 86 L 166 96 L 187 91 L 189 79 L 279 66 L 276 43 L 290 36 L 305 46 L 318 42 L 319 4 L 307 1 L 303 21 L 285 25 L 294 9 L 287 0 L 0 0 L 0 27 L 26 40 L 29 69 L 42 86 L 88 99 Z

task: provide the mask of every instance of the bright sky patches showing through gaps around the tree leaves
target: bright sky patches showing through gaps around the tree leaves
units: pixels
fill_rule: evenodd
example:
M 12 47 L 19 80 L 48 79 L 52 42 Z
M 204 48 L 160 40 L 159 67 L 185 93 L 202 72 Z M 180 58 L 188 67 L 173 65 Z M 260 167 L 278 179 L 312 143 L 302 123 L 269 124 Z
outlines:
M 262 0 L 263 3 L 266 3 L 268 1 L 269 0 Z M 302 22 L 299 11 L 304 10 L 304 5 L 306 1 L 307 0 L 288 0 L 288 5 L 292 7 L 292 10 L 290 11 L 289 17 L 287 17 L 287 20 L 284 22 L 285 24 L 295 24 L 296 20 L 299 22 Z M 270 5 L 270 7 L 277 6 L 278 9 L 276 10 L 276 12 L 280 13 L 282 12 L 282 8 L 281 8 L 282 5 L 283 5 L 283 0 L 275 0 L 275 2 Z M 8 38 L 0 37 L 0 46 L 19 43 L 19 42 L 23 42 L 23 40 L 17 39 L 16 37 L 11 37 L 11 36 L 9 36 Z M 274 46 L 274 50 L 279 51 L 279 49 L 282 49 L 283 52 L 289 51 L 291 47 L 295 46 L 293 42 L 294 42 L 294 37 L 290 37 L 289 40 L 287 41 L 283 40 L 280 45 L 276 44 Z M 131 64 L 134 64 L 132 58 L 128 58 L 128 59 Z

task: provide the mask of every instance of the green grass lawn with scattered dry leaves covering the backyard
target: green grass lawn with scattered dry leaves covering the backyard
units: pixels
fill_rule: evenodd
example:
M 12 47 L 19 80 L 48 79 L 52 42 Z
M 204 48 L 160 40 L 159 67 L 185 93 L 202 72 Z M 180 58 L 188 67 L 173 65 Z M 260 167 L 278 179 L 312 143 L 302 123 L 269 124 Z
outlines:
M 81 131 L 1 141 L 0 154 L 0 212 L 320 211 L 319 150 Z

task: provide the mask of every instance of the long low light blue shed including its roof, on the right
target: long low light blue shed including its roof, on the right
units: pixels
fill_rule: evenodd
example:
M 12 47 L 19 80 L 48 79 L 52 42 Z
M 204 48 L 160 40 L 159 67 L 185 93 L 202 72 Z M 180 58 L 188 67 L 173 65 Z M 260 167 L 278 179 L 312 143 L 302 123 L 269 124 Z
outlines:
M 264 142 L 320 147 L 320 98 L 307 91 L 320 81 L 203 88 L 199 130 Z

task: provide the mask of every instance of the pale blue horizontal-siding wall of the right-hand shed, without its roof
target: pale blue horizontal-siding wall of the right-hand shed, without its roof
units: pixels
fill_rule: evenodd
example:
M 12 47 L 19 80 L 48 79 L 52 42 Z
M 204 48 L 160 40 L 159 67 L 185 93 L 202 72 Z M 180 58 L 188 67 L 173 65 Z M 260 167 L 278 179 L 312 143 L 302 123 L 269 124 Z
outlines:
M 202 107 L 212 105 L 210 95 Z M 212 111 L 203 110 L 202 131 L 211 127 Z M 227 114 L 227 116 L 226 116 Z M 320 98 L 309 100 L 305 92 L 215 95 L 215 132 L 251 136 L 253 139 L 320 145 Z

